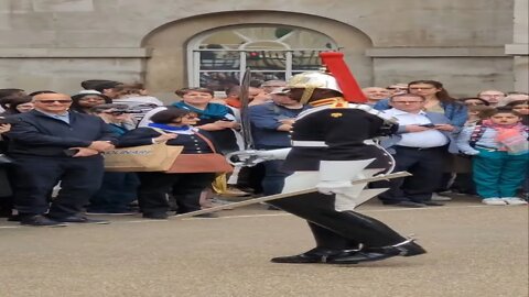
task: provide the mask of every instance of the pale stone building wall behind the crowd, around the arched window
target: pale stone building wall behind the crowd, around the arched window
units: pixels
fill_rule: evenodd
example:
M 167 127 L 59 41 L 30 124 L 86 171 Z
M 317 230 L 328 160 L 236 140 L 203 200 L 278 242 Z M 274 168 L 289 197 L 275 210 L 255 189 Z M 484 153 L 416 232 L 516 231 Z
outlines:
M 290 13 L 307 28 L 341 23 L 365 34 L 363 58 L 354 45 L 344 48 L 348 62 L 363 65 L 363 86 L 433 78 L 456 95 L 512 90 L 515 73 L 520 77 L 527 65 L 527 54 L 514 58 L 504 51 L 523 30 L 527 36 L 520 21 L 527 9 L 517 10 L 514 30 L 515 1 L 527 8 L 527 0 L 1 0 L 0 88 L 74 92 L 83 79 L 145 79 L 155 94 L 170 94 L 170 86 L 186 84 L 185 45 L 204 22 L 215 25 L 228 15 L 233 24 L 272 23 L 281 22 L 273 15 Z M 150 48 L 153 36 L 183 21 L 191 31 L 168 41 L 180 56 Z M 180 67 L 153 64 L 171 58 Z M 163 82 L 172 72 L 174 81 Z

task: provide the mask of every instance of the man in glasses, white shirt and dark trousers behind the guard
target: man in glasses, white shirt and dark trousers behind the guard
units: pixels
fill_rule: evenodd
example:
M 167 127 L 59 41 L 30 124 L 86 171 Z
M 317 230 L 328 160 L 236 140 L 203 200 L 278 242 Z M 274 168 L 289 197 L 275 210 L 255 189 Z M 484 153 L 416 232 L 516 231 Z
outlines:
M 447 151 L 456 152 L 450 120 L 441 113 L 424 111 L 427 99 L 417 94 L 395 95 L 392 109 L 385 113 L 399 122 L 397 134 L 382 140 L 396 161 L 396 172 L 408 170 L 412 176 L 374 183 L 389 187 L 378 197 L 385 205 L 399 207 L 442 206 L 432 201 L 439 187 Z

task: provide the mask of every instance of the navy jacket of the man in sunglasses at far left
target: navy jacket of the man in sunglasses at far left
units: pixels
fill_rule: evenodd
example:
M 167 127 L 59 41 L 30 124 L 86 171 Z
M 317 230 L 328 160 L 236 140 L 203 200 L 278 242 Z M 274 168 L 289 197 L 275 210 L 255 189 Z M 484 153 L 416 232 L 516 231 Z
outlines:
M 37 110 L 17 117 L 9 138 L 9 154 L 66 156 L 64 150 L 87 147 L 93 141 L 117 142 L 117 135 L 100 118 L 69 112 L 69 124 Z

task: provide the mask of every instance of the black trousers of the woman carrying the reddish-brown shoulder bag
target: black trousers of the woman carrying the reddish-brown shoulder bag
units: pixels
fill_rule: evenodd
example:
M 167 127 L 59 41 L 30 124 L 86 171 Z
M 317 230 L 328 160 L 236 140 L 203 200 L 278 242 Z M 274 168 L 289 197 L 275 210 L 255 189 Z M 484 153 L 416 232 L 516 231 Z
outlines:
M 143 213 L 161 213 L 170 209 L 168 194 L 176 200 L 177 213 L 201 209 L 201 193 L 215 179 L 214 173 L 139 173 L 138 204 Z

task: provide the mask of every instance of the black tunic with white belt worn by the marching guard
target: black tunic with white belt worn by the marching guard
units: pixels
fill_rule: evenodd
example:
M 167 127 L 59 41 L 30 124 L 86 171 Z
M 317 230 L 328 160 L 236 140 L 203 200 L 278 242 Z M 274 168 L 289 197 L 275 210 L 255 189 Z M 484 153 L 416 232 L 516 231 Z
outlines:
M 385 120 L 356 108 L 319 107 L 296 118 L 292 131 L 293 146 L 283 168 L 319 170 L 320 161 L 353 161 L 376 158 L 369 167 L 386 168 L 390 160 L 386 152 L 365 140 L 381 136 Z M 322 142 L 324 147 L 296 146 L 295 142 Z

